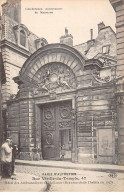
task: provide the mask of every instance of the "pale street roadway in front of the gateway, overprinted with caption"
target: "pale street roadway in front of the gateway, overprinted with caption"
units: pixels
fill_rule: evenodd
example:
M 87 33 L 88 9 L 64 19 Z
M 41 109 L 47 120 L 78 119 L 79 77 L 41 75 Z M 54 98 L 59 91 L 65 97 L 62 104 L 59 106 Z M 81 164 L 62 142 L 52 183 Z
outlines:
M 124 191 L 124 174 L 75 169 L 16 165 L 16 173 L 42 177 L 51 184 L 49 191 Z

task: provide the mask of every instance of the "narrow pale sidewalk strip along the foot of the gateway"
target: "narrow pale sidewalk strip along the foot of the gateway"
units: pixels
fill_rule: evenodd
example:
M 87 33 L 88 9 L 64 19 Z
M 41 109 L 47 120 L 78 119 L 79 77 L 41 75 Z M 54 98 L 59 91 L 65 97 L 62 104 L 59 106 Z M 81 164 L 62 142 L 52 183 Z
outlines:
M 79 164 L 67 161 L 27 161 L 27 160 L 16 160 L 16 165 L 29 165 L 38 167 L 54 167 L 63 169 L 77 169 L 87 171 L 99 171 L 99 172 L 121 172 L 124 173 L 124 166 L 109 165 L 109 164 Z

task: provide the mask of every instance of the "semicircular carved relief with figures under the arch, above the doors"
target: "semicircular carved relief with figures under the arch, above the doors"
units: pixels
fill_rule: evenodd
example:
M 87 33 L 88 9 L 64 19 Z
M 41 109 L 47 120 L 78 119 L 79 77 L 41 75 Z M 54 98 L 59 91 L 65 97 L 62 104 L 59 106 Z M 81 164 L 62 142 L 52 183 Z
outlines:
M 33 80 L 37 80 L 38 88 L 34 94 L 61 92 L 76 88 L 76 81 L 72 70 L 62 63 L 50 63 L 41 67 Z

